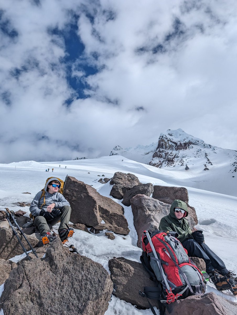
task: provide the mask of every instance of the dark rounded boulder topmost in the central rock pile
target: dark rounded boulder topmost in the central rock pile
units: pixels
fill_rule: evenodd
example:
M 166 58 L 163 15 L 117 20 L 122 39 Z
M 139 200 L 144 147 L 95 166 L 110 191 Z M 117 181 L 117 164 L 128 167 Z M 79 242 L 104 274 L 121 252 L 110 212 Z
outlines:
M 141 184 L 138 177 L 133 174 L 124 174 L 121 172 L 114 173 L 113 178 L 110 180 L 110 185 L 113 185 L 110 196 L 116 199 L 122 199 L 123 194 L 133 186 Z

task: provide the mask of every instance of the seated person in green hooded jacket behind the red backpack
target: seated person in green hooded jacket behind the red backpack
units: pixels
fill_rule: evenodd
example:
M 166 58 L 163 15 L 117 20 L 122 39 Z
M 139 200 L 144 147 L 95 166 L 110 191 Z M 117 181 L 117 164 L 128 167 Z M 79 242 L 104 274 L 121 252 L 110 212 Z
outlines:
M 237 295 L 237 278 L 234 272 L 228 271 L 224 262 L 204 244 L 202 231 L 192 232 L 189 222 L 187 204 L 181 200 L 174 200 L 170 207 L 170 214 L 161 219 L 160 231 L 174 231 L 179 234 L 178 240 L 187 249 L 190 257 L 199 257 L 206 262 L 206 272 L 215 284 L 217 290 L 231 290 Z

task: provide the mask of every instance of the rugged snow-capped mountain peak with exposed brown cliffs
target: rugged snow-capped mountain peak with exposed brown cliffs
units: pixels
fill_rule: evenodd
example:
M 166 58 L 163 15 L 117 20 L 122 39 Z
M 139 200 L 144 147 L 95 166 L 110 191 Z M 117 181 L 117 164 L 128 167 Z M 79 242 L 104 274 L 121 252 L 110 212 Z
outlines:
M 237 152 L 212 146 L 182 129 L 161 133 L 158 143 L 122 149 L 116 146 L 110 155 L 172 171 L 176 185 L 236 196 Z M 173 177 L 173 175 L 172 175 Z

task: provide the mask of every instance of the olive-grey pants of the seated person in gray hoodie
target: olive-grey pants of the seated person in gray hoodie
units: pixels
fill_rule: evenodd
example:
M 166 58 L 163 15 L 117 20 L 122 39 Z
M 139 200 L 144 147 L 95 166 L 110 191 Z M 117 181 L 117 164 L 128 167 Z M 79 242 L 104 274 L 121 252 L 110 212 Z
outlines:
M 56 224 L 58 221 L 60 221 L 59 230 L 67 229 L 66 224 L 68 224 L 70 220 L 71 207 L 64 206 L 60 209 L 60 211 L 62 215 L 50 222 L 48 222 L 42 215 L 35 217 L 34 224 L 38 228 L 41 236 L 45 235 L 47 232 L 50 232 L 52 225 Z

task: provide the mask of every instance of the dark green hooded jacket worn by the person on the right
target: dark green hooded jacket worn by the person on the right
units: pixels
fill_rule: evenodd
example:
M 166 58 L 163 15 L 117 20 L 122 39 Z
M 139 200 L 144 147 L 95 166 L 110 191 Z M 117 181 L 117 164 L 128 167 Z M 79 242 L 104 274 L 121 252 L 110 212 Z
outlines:
M 178 240 L 183 243 L 189 238 L 193 238 L 192 230 L 189 226 L 189 222 L 183 217 L 181 219 L 177 219 L 174 214 L 174 208 L 181 208 L 186 211 L 184 213 L 184 217 L 188 216 L 188 207 L 187 204 L 181 200 L 174 200 L 170 207 L 170 214 L 164 216 L 161 219 L 159 230 L 160 231 L 174 231 L 178 233 Z

